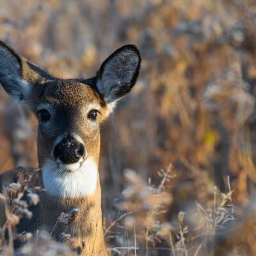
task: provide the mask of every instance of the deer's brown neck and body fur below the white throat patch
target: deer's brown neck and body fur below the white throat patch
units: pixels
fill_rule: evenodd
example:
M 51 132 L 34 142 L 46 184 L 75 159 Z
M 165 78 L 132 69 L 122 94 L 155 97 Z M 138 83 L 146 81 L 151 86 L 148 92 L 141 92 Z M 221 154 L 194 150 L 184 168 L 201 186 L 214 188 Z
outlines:
M 3 187 L 18 180 L 22 184 L 22 180 L 27 179 L 29 173 L 33 170 L 18 168 L 1 175 Z M 33 173 L 33 180 L 29 187 L 43 186 L 41 172 Z M 4 209 L 4 205 L 0 205 Z M 102 211 L 101 211 L 101 189 L 98 179 L 97 189 L 90 196 L 81 198 L 60 198 L 57 196 L 47 195 L 45 191 L 40 193 L 40 203 L 38 204 L 38 213 L 36 220 L 26 223 L 20 223 L 18 231 L 35 232 L 36 230 L 45 229 L 52 234 L 57 241 L 61 239 L 61 233 L 72 234 L 74 240 L 70 244 L 72 250 L 79 255 L 103 256 L 111 255 L 104 241 L 102 229 Z M 57 219 L 61 212 L 69 212 L 74 208 L 78 208 L 79 212 L 76 220 L 69 224 L 58 223 Z M 1 211 L 1 225 L 5 221 L 4 211 Z M 82 241 L 85 242 L 83 246 Z

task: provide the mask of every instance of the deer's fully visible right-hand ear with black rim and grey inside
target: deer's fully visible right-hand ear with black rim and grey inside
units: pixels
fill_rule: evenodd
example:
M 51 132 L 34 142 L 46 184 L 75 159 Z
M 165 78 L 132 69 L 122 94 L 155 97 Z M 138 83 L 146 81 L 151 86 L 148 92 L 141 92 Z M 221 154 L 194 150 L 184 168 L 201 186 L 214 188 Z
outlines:
M 124 45 L 105 60 L 95 77 L 95 86 L 109 104 L 130 92 L 140 71 L 140 52 L 135 45 Z

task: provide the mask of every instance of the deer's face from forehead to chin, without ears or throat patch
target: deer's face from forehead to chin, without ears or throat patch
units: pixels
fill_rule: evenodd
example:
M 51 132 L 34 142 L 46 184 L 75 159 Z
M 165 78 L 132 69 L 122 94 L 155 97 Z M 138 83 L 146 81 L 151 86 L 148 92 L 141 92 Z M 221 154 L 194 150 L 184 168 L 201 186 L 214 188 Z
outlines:
M 99 159 L 99 124 L 108 106 L 88 84 L 56 81 L 45 84 L 35 106 L 38 116 L 38 159 L 56 164 L 59 172 L 73 172 L 84 161 Z

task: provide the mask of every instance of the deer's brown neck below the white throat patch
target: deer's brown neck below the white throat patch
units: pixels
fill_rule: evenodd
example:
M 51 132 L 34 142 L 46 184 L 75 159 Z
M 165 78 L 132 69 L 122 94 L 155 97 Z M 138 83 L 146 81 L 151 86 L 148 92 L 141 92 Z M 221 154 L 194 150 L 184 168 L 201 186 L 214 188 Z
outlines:
M 61 198 L 43 193 L 40 204 L 40 227 L 46 227 L 54 239 L 61 241 L 61 234 L 70 234 L 72 250 L 81 255 L 109 255 L 102 228 L 100 181 L 92 195 L 77 198 Z M 61 212 L 78 208 L 75 220 L 58 223 Z M 83 245 L 85 244 L 85 246 Z M 105 254 L 100 254 L 105 253 Z

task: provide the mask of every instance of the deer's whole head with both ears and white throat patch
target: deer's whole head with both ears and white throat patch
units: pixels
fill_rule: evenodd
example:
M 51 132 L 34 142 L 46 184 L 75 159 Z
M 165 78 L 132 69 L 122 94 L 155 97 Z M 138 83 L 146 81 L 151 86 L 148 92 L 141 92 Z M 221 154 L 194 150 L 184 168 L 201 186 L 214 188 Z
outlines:
M 74 196 L 93 192 L 100 122 L 134 86 L 139 68 L 138 49 L 125 45 L 102 63 L 95 77 L 58 79 L 0 43 L 1 84 L 38 116 L 38 162 L 49 193 Z

